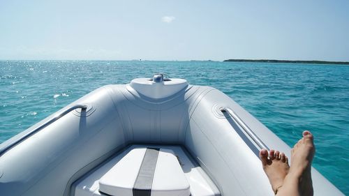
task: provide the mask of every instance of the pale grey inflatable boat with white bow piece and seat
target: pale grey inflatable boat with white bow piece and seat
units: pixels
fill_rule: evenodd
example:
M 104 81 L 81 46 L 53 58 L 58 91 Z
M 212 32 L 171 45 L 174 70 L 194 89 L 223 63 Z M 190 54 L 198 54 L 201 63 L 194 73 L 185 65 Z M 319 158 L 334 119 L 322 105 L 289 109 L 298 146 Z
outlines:
M 0 145 L 0 195 L 274 195 L 258 151 L 290 147 L 221 91 L 102 86 Z M 312 168 L 315 195 L 343 195 Z

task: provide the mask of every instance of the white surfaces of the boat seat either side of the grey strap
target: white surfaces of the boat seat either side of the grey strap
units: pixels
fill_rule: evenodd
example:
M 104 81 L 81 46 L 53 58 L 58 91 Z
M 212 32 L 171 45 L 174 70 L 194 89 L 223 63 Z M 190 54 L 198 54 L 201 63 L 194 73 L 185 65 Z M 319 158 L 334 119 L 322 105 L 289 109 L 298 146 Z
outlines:
M 146 148 L 133 149 L 99 181 L 102 193 L 133 196 Z M 144 164 L 144 163 L 143 163 Z M 159 149 L 151 183 L 151 196 L 189 196 L 190 187 L 179 162 L 170 149 Z

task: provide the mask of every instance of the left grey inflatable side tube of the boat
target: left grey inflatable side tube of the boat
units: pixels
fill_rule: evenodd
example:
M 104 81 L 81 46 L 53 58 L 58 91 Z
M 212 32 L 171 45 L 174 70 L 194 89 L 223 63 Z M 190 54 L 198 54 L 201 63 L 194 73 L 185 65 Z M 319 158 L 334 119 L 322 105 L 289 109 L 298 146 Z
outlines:
M 106 87 L 75 103 L 96 110 L 87 117 L 70 112 L 0 157 L 1 195 L 64 195 L 75 174 L 81 176 L 126 145 Z

